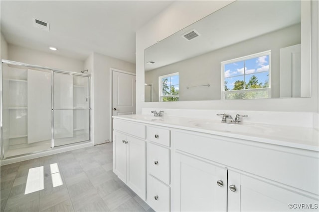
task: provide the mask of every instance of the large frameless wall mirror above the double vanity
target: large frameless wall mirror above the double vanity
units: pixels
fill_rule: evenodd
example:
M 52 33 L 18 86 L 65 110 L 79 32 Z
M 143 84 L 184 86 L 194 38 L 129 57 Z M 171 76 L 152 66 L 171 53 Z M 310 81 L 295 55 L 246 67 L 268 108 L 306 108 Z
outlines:
M 310 97 L 311 2 L 234 1 L 145 50 L 145 101 Z

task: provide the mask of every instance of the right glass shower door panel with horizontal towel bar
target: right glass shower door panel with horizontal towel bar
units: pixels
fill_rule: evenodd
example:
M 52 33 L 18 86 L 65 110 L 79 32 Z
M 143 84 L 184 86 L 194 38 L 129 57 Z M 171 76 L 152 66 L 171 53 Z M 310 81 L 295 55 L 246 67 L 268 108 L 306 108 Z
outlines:
M 89 141 L 89 108 L 89 77 L 54 72 L 54 146 Z

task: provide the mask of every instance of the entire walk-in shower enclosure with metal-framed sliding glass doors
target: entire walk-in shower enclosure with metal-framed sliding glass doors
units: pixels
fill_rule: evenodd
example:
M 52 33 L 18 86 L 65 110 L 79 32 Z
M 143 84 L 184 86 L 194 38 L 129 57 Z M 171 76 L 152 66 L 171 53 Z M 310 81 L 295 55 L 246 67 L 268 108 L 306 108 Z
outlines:
M 1 160 L 90 141 L 90 76 L 1 61 Z

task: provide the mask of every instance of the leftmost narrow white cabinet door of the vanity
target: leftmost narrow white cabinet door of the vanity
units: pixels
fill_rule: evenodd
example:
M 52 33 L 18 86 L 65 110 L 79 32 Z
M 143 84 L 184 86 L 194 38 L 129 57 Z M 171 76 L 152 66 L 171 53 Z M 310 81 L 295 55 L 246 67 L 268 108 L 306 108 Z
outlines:
M 126 135 L 115 131 L 113 141 L 113 171 L 126 183 Z

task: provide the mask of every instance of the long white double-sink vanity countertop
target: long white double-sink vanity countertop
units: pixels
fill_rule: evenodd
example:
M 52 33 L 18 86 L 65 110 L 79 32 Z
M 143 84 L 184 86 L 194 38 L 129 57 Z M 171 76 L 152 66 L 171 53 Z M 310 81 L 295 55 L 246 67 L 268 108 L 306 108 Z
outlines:
M 309 127 L 268 125 L 247 122 L 241 125 L 226 124 L 221 123 L 220 121 L 217 122 L 216 120 L 175 116 L 154 117 L 149 115 L 122 115 L 113 116 L 113 118 L 319 151 L 319 131 Z

